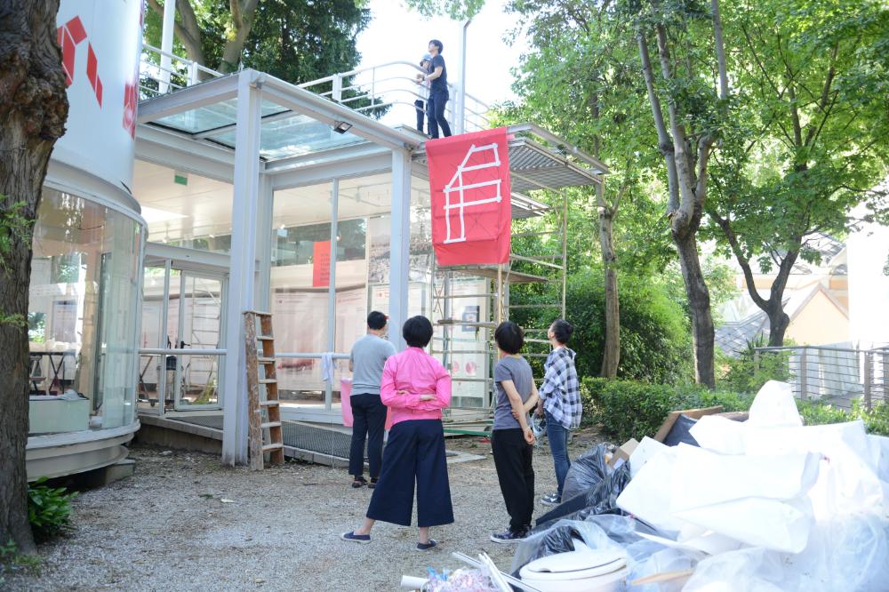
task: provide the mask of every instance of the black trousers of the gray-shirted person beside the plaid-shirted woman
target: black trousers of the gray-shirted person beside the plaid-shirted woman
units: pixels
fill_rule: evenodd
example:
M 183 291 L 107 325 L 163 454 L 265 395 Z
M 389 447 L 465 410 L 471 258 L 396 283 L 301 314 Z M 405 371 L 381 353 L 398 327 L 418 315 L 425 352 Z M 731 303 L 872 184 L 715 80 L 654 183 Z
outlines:
M 534 447 L 525 442 L 521 428 L 495 429 L 491 452 L 509 513 L 509 529 L 521 531 L 531 524 L 534 511 Z

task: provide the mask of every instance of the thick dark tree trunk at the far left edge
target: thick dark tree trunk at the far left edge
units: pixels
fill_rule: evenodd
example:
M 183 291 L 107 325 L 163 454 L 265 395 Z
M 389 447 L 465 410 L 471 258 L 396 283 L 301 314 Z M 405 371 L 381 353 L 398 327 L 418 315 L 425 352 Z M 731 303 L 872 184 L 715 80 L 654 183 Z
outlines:
M 36 220 L 46 165 L 65 132 L 68 98 L 56 44 L 59 0 L 0 5 L 0 213 Z M 15 204 L 21 204 L 17 206 Z M 0 542 L 30 553 L 28 525 L 28 285 L 33 225 L 0 219 Z

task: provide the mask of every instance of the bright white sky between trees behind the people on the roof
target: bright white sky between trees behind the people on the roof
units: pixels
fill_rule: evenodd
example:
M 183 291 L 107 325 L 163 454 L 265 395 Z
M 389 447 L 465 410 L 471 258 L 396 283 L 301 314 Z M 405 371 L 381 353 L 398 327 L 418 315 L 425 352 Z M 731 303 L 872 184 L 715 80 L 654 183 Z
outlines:
M 524 36 L 514 39 L 511 47 L 503 40 L 519 22 L 517 15 L 505 12 L 505 4 L 488 0 L 467 36 L 467 92 L 488 104 L 515 98 L 510 68 L 518 66 L 526 48 Z M 371 0 L 370 9 L 371 24 L 358 36 L 359 68 L 395 60 L 419 62 L 429 39 L 439 39 L 445 46 L 448 81 L 459 82 L 461 22 L 447 17 L 427 20 L 399 0 Z

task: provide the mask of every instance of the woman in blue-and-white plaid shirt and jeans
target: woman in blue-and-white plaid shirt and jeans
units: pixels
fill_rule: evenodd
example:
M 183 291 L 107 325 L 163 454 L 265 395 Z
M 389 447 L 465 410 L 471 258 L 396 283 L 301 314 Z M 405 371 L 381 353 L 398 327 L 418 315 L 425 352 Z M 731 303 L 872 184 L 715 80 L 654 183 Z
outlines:
M 583 406 L 577 370 L 574 368 L 575 354 L 571 348 L 566 347 L 573 331 L 574 327 L 571 324 L 558 319 L 549 325 L 547 332 L 553 350 L 547 358 L 537 414 L 546 413 L 547 439 L 549 450 L 553 455 L 553 464 L 556 466 L 558 491 L 541 500 L 546 506 L 562 503 L 565 475 L 571 467 L 571 460 L 568 458 L 568 432 L 581 425 Z

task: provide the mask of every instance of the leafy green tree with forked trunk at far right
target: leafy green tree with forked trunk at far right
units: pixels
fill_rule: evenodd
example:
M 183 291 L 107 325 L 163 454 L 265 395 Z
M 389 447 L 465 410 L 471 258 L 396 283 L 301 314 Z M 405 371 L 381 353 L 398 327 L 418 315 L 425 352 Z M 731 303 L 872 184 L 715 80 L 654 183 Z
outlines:
M 817 233 L 844 236 L 868 204 L 885 220 L 889 171 L 889 8 L 879 0 L 733 0 L 723 11 L 733 103 L 711 169 L 709 236 L 738 260 L 750 297 L 783 342 L 781 306 Z M 768 297 L 751 262 L 776 272 Z

